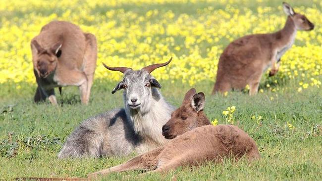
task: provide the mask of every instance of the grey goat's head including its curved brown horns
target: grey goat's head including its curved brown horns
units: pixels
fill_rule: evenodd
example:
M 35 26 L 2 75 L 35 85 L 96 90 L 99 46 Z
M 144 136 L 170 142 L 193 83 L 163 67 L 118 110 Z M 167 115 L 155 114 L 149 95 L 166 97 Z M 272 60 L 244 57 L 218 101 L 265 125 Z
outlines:
M 161 96 L 157 90 L 157 88 L 161 89 L 161 85 L 150 73 L 159 67 L 166 66 L 171 60 L 172 57 L 165 63 L 149 65 L 136 71 L 127 67 L 108 67 L 104 63 L 103 65 L 108 70 L 124 74 L 123 80 L 115 86 L 112 93 L 123 89 L 125 107 L 145 113 L 153 106 L 150 100 L 160 99 Z

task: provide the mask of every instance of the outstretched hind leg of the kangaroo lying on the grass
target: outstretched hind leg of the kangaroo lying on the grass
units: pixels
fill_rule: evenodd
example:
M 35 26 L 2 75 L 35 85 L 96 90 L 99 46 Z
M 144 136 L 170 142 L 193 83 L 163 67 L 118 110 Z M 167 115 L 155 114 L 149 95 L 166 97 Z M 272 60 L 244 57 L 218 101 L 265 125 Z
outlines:
M 111 167 L 93 174 L 87 175 L 88 178 L 96 178 L 99 175 L 107 175 L 113 172 L 124 172 L 130 170 L 153 170 L 157 167 L 158 157 L 161 151 L 164 149 L 163 146 L 156 148 L 154 150 L 143 153 L 139 156 L 132 158 L 131 160 Z

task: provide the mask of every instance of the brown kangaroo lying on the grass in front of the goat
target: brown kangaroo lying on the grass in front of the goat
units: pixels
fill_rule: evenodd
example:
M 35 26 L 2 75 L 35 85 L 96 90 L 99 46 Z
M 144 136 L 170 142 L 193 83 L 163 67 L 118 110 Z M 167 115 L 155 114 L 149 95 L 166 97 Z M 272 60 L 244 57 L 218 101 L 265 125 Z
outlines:
M 224 157 L 231 156 L 238 160 L 245 155 L 249 161 L 260 158 L 254 139 L 238 127 L 210 125 L 203 112 L 204 105 L 204 93 L 189 90 L 181 107 L 162 128 L 165 138 L 174 138 L 172 141 L 88 177 L 129 170 L 165 172 L 179 166 L 198 166 L 206 161 L 220 163 Z

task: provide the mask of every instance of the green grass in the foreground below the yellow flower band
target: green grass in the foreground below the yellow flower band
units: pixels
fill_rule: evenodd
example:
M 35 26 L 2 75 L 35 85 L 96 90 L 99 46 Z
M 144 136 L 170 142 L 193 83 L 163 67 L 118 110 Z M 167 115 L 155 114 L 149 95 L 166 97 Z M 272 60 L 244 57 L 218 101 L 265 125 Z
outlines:
M 190 88 L 179 82 L 162 81 L 162 94 L 175 106 L 181 104 L 183 92 Z M 262 83 L 265 84 L 265 83 Z M 122 107 L 122 93 L 112 95 L 115 83 L 96 81 L 91 102 L 83 106 L 76 88 L 63 89 L 59 107 L 49 102 L 32 101 L 35 85 L 0 85 L 0 179 L 16 177 L 85 177 L 87 174 L 120 164 L 128 157 L 100 159 L 59 160 L 57 153 L 66 136 L 79 123 L 90 116 Z M 176 85 L 176 87 L 173 87 Z M 178 86 L 179 85 L 179 86 Z M 223 165 L 205 164 L 200 168 L 180 168 L 166 176 L 148 175 L 140 178 L 139 172 L 112 174 L 103 180 L 321 180 L 322 179 L 322 91 L 307 89 L 293 91 L 291 83 L 277 85 L 289 88 L 279 92 L 265 90 L 250 97 L 246 93 L 231 92 L 227 97 L 211 96 L 213 82 L 195 86 L 206 93 L 207 116 L 225 124 L 221 112 L 235 105 L 236 124 L 252 136 L 262 158 L 251 164 L 241 161 Z M 23 91 L 22 91 L 23 90 Z M 277 94 L 277 97 L 276 97 Z M 273 96 L 274 99 L 270 100 Z M 260 115 L 260 125 L 251 119 Z M 287 122 L 295 129 L 290 130 Z M 28 141 L 29 140 L 29 141 Z M 129 177 L 127 177 L 129 175 Z M 126 176 L 126 177 L 124 177 Z

